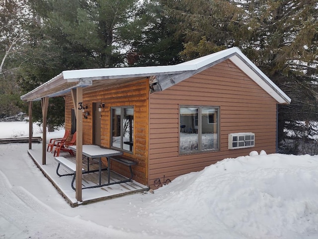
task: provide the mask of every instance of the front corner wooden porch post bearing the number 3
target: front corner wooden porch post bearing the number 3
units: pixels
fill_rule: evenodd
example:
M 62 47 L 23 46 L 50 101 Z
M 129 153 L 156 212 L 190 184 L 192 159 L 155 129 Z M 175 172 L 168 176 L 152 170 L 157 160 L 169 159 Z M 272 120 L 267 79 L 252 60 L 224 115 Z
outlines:
M 72 91 L 73 96 L 73 91 Z M 83 88 L 76 88 L 76 199 L 81 202 L 81 182 L 82 182 L 82 149 L 83 149 L 83 116 L 82 116 Z

